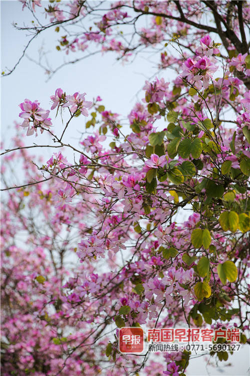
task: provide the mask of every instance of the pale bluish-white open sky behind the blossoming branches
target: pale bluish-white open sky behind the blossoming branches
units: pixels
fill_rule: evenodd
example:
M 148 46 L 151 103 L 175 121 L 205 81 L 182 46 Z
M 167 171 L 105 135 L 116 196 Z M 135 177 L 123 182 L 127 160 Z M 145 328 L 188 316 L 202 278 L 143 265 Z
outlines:
M 42 2 L 43 6 L 45 4 L 47 3 Z M 0 1 L 0 5 L 2 71 L 5 70 L 5 67 L 13 67 L 21 55 L 25 43 L 28 41 L 25 37 L 26 32 L 16 31 L 11 24 L 17 22 L 19 26 L 23 24 L 28 25 L 31 19 L 29 12 L 26 9 L 22 12 L 22 5 L 15 0 Z M 37 60 L 37 50 L 45 42 L 45 50 L 51 51 L 49 59 L 55 61 L 54 66 L 60 65 L 63 62 L 63 58 L 67 59 L 64 52 L 57 52 L 55 50 L 56 40 L 60 35 L 63 34 L 60 32 L 55 33 L 52 30 L 42 33 L 32 43 L 27 55 Z M 72 60 L 74 56 L 77 57 L 76 54 L 71 53 L 68 59 Z M 51 102 L 49 97 L 59 87 L 66 94 L 73 94 L 76 91 L 80 93 L 86 92 L 86 100 L 92 100 L 93 97 L 99 95 L 103 99 L 100 104 L 103 104 L 106 110 L 119 113 L 121 114 L 121 118 L 124 118 L 136 102 L 135 94 L 142 88 L 145 79 L 149 78 L 155 72 L 155 67 L 152 68 L 152 59 L 147 55 L 137 57 L 132 64 L 125 65 L 116 62 L 115 57 L 116 54 L 114 53 L 89 57 L 78 64 L 65 66 L 55 73 L 48 82 L 45 82 L 47 76 L 44 74 L 44 71 L 24 57 L 10 76 L 1 78 L 1 136 L 4 147 L 10 148 L 12 146 L 10 139 L 15 134 L 13 122 L 19 121 L 18 114 L 20 108 L 18 104 L 23 102 L 25 98 L 31 101 L 37 99 L 42 108 L 50 109 Z M 150 62 L 146 60 L 147 58 L 150 58 Z M 165 72 L 163 77 L 166 81 L 169 80 L 169 76 L 167 77 Z M 140 92 L 137 99 L 141 99 L 142 96 L 143 93 Z M 57 132 L 55 133 L 58 135 L 59 129 L 62 130 L 63 127 L 59 120 L 53 122 L 53 115 L 55 113 L 55 110 L 50 113 L 50 116 L 52 115 L 52 123 L 55 124 L 52 131 L 56 129 Z M 76 121 L 71 122 L 69 129 L 65 133 L 64 141 L 75 143 L 76 138 L 79 136 L 78 131 L 84 131 L 84 124 L 87 120 L 88 118 L 81 115 Z M 163 127 L 165 127 L 165 124 Z M 91 129 L 89 128 L 88 131 L 91 131 Z M 126 128 L 126 132 L 129 132 L 128 128 Z M 37 137 L 34 135 L 27 137 L 25 133 L 26 130 L 23 129 L 23 138 L 26 145 L 32 145 L 33 142 L 52 144 L 52 142 L 49 142 L 49 137 L 45 134 L 46 132 L 43 132 L 42 135 L 38 132 Z M 45 150 L 43 148 L 42 155 L 44 155 L 44 161 L 54 151 L 57 152 L 58 150 Z M 32 149 L 32 154 L 34 154 L 34 149 Z M 20 181 L 22 181 L 21 174 L 19 177 Z M 234 353 L 233 356 L 229 355 L 228 361 L 219 362 L 219 367 L 217 368 L 207 366 L 207 361 L 204 357 L 193 359 L 190 361 L 188 372 L 186 373 L 190 376 L 245 376 L 248 374 L 247 369 L 249 369 L 248 347 L 245 345 L 238 353 Z M 232 363 L 233 365 L 226 366 L 228 363 Z M 142 376 L 141 373 L 140 375 Z

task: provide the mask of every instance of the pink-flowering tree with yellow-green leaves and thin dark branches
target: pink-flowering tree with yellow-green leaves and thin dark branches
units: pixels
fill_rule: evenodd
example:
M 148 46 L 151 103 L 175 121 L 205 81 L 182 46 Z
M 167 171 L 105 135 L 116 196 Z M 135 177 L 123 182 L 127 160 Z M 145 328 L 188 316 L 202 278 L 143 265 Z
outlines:
M 184 375 L 186 350 L 120 353 L 124 326 L 234 327 L 245 343 L 249 5 L 50 2 L 38 15 L 39 0 L 21 3 L 37 22 L 24 28 L 32 39 L 63 28 L 58 53 L 85 58 L 99 46 L 129 61 L 153 50 L 162 78 L 145 82 L 126 122 L 99 96 L 63 88 L 50 96 L 50 110 L 37 100 L 20 104 L 15 145 L 2 152 L 3 375 Z M 88 29 L 79 29 L 82 19 Z M 52 130 L 59 114 L 63 125 Z M 66 135 L 78 116 L 91 134 L 75 146 Z M 38 131 L 50 144 L 25 146 L 21 137 Z M 39 147 L 56 150 L 35 161 L 28 149 Z M 8 171 L 18 163 L 25 182 L 13 186 Z M 228 358 L 221 349 L 210 355 Z

